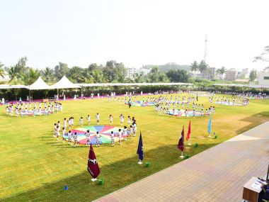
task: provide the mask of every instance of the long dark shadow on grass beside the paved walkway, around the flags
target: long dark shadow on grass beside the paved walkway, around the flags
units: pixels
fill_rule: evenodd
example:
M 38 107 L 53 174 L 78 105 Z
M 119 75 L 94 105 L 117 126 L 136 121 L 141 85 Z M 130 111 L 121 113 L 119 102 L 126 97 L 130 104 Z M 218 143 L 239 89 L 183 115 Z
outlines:
M 217 145 L 216 143 L 194 145 L 185 147 L 185 155 L 196 155 L 203 150 Z M 128 151 L 125 151 L 128 152 Z M 124 155 L 124 152 L 122 152 Z M 128 184 L 132 184 L 139 179 L 159 172 L 166 167 L 181 162 L 179 157 L 181 151 L 178 150 L 177 145 L 162 145 L 154 150 L 144 150 L 144 162 L 151 162 L 150 167 L 145 167 L 145 164 L 137 164 L 137 155 L 131 158 L 123 159 L 112 164 L 107 164 L 101 167 L 101 174 L 98 178 L 103 178 L 105 184 L 98 185 L 96 182 L 91 181 L 91 175 L 86 171 L 85 159 L 85 172 L 70 176 L 69 178 L 55 181 L 52 183 L 43 183 L 38 189 L 33 189 L 23 193 L 18 193 L 15 196 L 2 198 L 3 201 L 93 201 L 96 198 L 105 196 L 108 193 L 116 191 Z M 64 160 L 64 159 L 63 159 Z M 102 162 L 99 162 L 101 166 Z M 70 167 L 72 165 L 70 164 Z M 59 169 L 61 169 L 59 167 Z M 71 173 L 70 173 L 71 175 Z M 67 184 L 68 190 L 64 191 L 64 185 Z M 1 201 L 1 198 L 0 198 Z

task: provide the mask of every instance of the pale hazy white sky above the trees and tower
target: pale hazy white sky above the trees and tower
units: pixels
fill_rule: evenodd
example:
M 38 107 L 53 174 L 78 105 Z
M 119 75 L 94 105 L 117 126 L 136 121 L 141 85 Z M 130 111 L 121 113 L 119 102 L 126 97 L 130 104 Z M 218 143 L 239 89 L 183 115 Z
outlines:
M 190 64 L 262 69 L 269 1 L 1 0 L 0 61 L 30 67 Z

